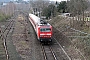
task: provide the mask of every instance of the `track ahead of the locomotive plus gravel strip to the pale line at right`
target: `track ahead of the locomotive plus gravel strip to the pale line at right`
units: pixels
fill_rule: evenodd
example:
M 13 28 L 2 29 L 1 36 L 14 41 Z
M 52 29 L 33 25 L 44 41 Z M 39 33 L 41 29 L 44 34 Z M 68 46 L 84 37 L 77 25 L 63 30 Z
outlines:
M 44 60 L 72 60 L 61 44 L 55 38 L 53 40 L 51 45 L 41 43 Z

